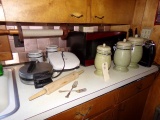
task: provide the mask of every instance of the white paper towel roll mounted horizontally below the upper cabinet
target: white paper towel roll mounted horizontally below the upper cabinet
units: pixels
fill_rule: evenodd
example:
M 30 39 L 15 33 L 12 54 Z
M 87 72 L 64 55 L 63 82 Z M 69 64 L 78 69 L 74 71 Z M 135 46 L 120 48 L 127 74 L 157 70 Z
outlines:
M 62 36 L 63 30 L 23 29 L 23 37 Z

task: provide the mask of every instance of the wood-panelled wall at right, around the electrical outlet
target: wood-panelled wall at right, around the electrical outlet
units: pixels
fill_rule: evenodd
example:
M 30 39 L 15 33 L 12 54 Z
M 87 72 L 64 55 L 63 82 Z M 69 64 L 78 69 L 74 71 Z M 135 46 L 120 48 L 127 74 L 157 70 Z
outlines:
M 151 28 L 153 30 L 150 39 L 156 43 L 154 61 L 160 64 L 160 26 L 154 25 L 158 3 L 159 0 L 137 0 L 131 27 L 132 29 L 138 28 L 139 35 L 143 28 Z

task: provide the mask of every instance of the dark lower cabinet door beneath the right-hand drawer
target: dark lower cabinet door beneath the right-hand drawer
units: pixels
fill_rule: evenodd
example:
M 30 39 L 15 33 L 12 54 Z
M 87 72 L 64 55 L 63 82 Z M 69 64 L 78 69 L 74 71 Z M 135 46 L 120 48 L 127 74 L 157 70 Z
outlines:
M 125 100 L 117 106 L 117 120 L 141 120 L 149 88 Z

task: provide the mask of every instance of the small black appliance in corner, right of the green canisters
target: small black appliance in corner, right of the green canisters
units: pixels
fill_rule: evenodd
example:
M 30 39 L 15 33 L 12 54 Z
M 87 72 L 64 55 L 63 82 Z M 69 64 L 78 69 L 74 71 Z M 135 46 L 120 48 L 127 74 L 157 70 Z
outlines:
M 143 55 L 139 64 L 145 67 L 151 67 L 156 55 L 156 46 L 152 40 L 145 40 L 143 45 Z

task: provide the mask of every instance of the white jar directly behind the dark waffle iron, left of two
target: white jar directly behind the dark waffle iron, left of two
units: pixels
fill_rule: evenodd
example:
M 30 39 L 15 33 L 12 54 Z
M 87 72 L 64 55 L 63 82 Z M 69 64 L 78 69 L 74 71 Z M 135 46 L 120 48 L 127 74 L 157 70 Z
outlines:
M 43 53 L 42 51 L 31 51 L 27 54 L 29 61 L 39 61 L 43 62 Z

